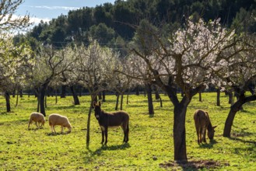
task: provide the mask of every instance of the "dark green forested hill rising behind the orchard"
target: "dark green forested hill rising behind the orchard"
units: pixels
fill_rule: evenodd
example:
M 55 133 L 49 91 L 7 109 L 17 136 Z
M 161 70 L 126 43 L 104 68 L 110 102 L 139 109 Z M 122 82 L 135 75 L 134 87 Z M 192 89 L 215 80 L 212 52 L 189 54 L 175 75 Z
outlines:
M 117 0 L 95 8 L 84 7 L 58 16 L 50 23 L 34 26 L 27 37 L 62 47 L 71 41 L 88 44 L 96 39 L 100 44 L 114 46 L 124 44 L 134 36 L 133 26 L 148 19 L 156 26 L 163 23 L 177 26 L 191 15 L 201 16 L 205 21 L 221 18 L 226 26 L 247 21 L 247 31 L 255 32 L 255 0 Z M 248 17 L 249 16 L 249 17 Z M 245 29 L 245 28 L 244 28 Z

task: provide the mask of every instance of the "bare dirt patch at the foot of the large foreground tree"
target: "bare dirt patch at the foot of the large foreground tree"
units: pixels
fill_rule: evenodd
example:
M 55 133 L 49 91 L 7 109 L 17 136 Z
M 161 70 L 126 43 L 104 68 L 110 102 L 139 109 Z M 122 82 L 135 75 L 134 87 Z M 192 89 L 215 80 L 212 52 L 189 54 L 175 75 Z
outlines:
M 174 162 L 168 161 L 160 163 L 160 167 L 164 169 L 217 169 L 220 166 L 230 166 L 229 163 L 222 163 L 214 160 L 198 160 L 198 161 L 188 161 L 188 162 Z

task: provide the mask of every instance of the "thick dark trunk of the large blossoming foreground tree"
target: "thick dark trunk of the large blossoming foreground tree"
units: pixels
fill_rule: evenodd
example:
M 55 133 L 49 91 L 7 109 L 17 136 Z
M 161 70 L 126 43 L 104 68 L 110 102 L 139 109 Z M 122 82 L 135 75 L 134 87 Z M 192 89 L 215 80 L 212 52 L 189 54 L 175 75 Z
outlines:
M 174 160 L 187 162 L 185 118 L 190 100 L 184 97 L 181 103 L 174 104 Z

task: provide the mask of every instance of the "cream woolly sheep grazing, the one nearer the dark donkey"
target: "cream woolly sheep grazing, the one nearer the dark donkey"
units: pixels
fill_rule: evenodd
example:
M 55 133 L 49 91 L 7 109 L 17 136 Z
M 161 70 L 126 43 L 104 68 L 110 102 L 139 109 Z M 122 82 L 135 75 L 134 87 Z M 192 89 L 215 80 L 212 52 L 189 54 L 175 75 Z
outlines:
M 68 117 L 61 116 L 57 113 L 52 113 L 49 116 L 49 125 L 51 127 L 51 132 L 56 133 L 54 127 L 55 125 L 61 125 L 61 133 L 63 132 L 63 127 L 68 127 L 68 132 L 71 132 L 72 126 L 68 121 Z

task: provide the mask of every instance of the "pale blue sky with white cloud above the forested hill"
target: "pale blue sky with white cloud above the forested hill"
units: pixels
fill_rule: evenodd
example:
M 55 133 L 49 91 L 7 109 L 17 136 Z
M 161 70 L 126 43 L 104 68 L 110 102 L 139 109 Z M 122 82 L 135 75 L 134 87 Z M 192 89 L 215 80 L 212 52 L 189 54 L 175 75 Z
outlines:
M 68 11 L 80 9 L 84 6 L 95 7 L 106 2 L 114 4 L 115 0 L 23 0 L 16 10 L 17 16 L 30 15 L 30 21 L 35 25 L 40 20 L 48 22 L 61 14 L 68 15 Z

